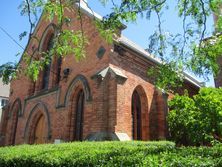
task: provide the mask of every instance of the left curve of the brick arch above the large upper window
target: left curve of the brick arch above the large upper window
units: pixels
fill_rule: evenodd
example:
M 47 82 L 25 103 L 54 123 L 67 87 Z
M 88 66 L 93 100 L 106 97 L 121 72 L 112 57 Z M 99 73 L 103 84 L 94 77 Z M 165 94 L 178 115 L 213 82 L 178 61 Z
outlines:
M 45 31 L 42 33 L 42 37 L 39 42 L 38 51 L 42 52 L 46 50 L 47 44 L 51 38 L 51 36 L 55 36 L 57 34 L 57 27 L 54 23 L 49 24 Z

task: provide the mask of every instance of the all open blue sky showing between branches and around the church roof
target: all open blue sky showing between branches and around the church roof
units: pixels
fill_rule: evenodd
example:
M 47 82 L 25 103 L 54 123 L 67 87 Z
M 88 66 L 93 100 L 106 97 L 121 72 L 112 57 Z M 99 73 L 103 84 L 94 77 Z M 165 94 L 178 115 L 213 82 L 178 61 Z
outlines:
M 114 0 L 115 1 L 115 0 Z M 118 0 L 117 0 L 118 1 Z M 172 5 L 173 1 L 170 1 Z M 16 56 L 18 53 L 22 53 L 23 49 L 27 44 L 27 38 L 22 41 L 19 40 L 19 35 L 29 30 L 28 18 L 21 16 L 18 6 L 21 0 L 1 0 L 0 5 L 0 65 L 6 62 L 16 62 L 20 59 L 20 56 Z M 98 0 L 88 0 L 89 6 L 101 16 L 105 16 L 111 12 L 110 4 L 106 7 L 102 6 Z M 182 32 L 182 21 L 178 19 L 175 8 L 167 11 L 163 17 L 164 28 L 171 32 Z M 138 17 L 136 23 L 124 23 L 127 25 L 122 33 L 124 36 L 140 45 L 144 49 L 148 46 L 148 37 L 157 28 L 157 19 L 153 17 L 151 20 L 146 18 Z M 3 28 L 18 44 L 16 44 L 5 32 Z M 207 29 L 213 31 L 213 19 L 208 21 Z M 200 78 L 198 78 L 200 79 Z M 202 80 L 202 79 L 200 79 Z M 213 79 L 207 82 L 207 86 L 214 86 Z

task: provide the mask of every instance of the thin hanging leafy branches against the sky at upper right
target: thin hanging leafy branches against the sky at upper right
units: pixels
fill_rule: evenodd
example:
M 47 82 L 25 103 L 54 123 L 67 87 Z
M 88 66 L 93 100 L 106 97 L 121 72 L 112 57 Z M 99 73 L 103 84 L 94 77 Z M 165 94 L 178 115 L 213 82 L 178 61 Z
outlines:
M 102 1 L 102 3 L 106 4 L 107 0 Z M 144 15 L 147 20 L 151 19 L 151 17 L 157 18 L 157 30 L 149 37 L 148 51 L 160 58 L 164 63 L 160 65 L 163 67 L 152 68 L 149 73 L 161 73 L 161 69 L 164 69 L 165 73 L 174 71 L 172 73 L 174 76 L 171 77 L 171 80 L 168 79 L 168 75 L 153 75 L 156 77 L 157 87 L 169 91 L 171 82 L 174 84 L 181 80 L 184 71 L 192 71 L 199 76 L 204 76 L 206 79 L 208 79 L 209 74 L 218 74 L 219 67 L 216 60 L 222 53 L 221 45 L 219 44 L 220 40 L 212 44 L 212 40 L 208 41 L 205 38 L 209 35 L 209 32 L 207 32 L 207 20 L 213 14 L 218 18 L 216 22 L 217 31 L 221 32 L 222 30 L 221 0 L 177 1 L 176 12 L 178 12 L 178 17 L 181 19 L 181 26 L 183 27 L 183 33 L 179 34 L 175 34 L 170 30 L 166 31 L 162 26 L 164 22 L 168 21 L 162 19 L 164 14 L 167 13 L 169 8 L 174 8 L 174 3 L 171 1 L 129 0 L 122 1 L 120 4 L 114 1 L 112 3 L 113 12 L 112 15 L 109 15 L 109 20 L 135 22 L 138 16 L 144 17 Z M 213 38 L 218 38 L 218 36 L 213 36 Z M 214 46 L 214 44 L 217 44 L 217 46 Z M 172 64 L 175 65 L 172 66 Z

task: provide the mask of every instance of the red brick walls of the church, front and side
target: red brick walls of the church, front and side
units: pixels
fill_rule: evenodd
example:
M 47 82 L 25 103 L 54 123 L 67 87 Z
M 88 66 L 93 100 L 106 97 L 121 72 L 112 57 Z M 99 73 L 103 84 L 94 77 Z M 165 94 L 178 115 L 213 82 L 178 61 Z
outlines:
M 68 12 L 67 15 L 73 17 L 71 29 L 80 29 L 76 14 Z M 155 88 L 147 75 L 147 68 L 154 64 L 130 50 L 124 50 L 123 53 L 115 51 L 114 45 L 107 44 L 99 36 L 89 16 L 84 14 L 83 20 L 84 33 L 89 39 L 86 58 L 80 62 L 76 62 L 73 55 L 63 58 L 59 85 L 53 84 L 55 76 L 52 73 L 49 87 L 44 91 L 41 90 L 42 73 L 36 83 L 25 76 L 19 76 L 12 81 L 10 104 L 5 112 L 7 114 L 4 116 L 4 125 L 1 127 L 5 145 L 32 144 L 40 116 L 44 116 L 46 124 L 44 132 L 46 143 L 52 143 L 55 139 L 75 140 L 76 98 L 80 90 L 84 91 L 85 97 L 84 139 L 111 140 L 116 137 L 116 133 L 127 134 L 132 139 L 131 105 L 134 91 L 138 92 L 141 100 L 142 140 L 164 139 L 167 136 L 165 120 L 167 106 L 164 94 Z M 46 33 L 47 36 L 51 29 L 49 32 L 45 30 L 50 24 L 41 20 L 35 31 L 36 35 L 44 36 Z M 97 58 L 96 53 L 101 46 L 106 52 L 102 58 Z M 38 48 L 36 41 L 28 44 L 28 52 L 32 52 L 33 47 Z M 23 61 L 21 65 L 25 67 Z M 54 63 L 51 68 L 53 67 L 56 67 Z M 118 69 L 121 74 L 116 74 L 110 68 L 105 76 L 98 74 L 107 67 Z M 68 78 L 64 78 L 63 70 L 67 68 L 70 69 L 70 74 Z M 126 78 L 119 75 L 124 75 Z M 198 88 L 190 83 L 186 86 L 193 93 L 198 91 Z M 17 125 L 15 125 L 16 119 Z M 16 134 L 15 142 L 12 141 L 13 134 Z

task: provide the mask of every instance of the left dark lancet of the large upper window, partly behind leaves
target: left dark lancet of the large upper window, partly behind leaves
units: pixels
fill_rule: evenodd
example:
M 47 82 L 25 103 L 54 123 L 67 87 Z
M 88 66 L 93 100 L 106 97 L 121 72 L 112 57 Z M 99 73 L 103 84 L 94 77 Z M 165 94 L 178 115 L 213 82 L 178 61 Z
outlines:
M 50 50 L 53 47 L 53 34 L 49 37 L 48 43 L 47 43 L 47 47 L 45 52 L 47 54 L 50 53 Z M 49 77 L 50 77 L 50 68 L 51 68 L 51 62 L 52 62 L 52 57 L 51 55 L 49 55 L 48 58 L 48 62 L 44 67 L 44 71 L 43 71 L 43 77 L 42 77 L 42 89 L 48 89 L 49 86 Z

